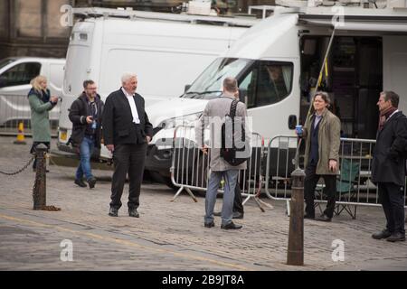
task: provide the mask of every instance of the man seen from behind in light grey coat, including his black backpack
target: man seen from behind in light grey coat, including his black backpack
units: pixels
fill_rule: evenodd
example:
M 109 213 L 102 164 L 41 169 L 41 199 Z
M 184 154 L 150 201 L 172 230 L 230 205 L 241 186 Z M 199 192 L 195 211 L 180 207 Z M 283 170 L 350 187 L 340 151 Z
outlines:
M 242 127 L 245 127 L 247 117 L 246 106 L 234 97 L 237 91 L 236 79 L 224 79 L 222 96 L 208 102 L 202 117 L 195 126 L 196 141 L 204 154 L 207 154 L 208 150 L 208 147 L 204 144 L 204 128 L 210 126 L 211 130 L 211 175 L 205 197 L 205 228 L 214 227 L 213 209 L 222 178 L 225 182 L 221 228 L 241 228 L 241 225 L 232 222 L 234 190 L 239 170 L 246 169 L 245 160 L 250 156 L 250 148 L 249 145 L 244 145 L 249 140 L 248 130 L 242 129 Z M 225 126 L 226 119 L 232 119 L 233 127 Z M 232 135 L 232 143 L 230 135 Z M 239 140 L 243 140 L 243 144 Z M 240 149 L 236 150 L 236 147 Z

